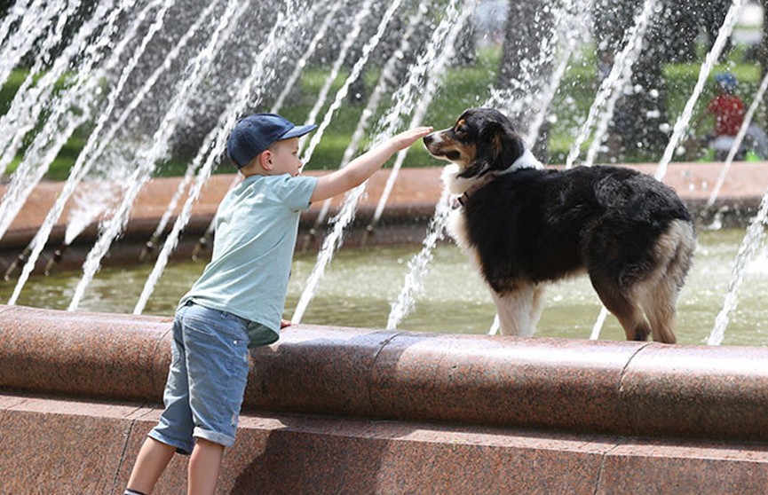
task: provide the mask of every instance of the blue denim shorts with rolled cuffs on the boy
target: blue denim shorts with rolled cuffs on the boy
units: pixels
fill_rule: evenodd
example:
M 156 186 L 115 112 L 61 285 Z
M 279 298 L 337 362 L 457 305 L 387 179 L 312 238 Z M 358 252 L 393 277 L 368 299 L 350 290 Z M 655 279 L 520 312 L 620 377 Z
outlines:
M 165 410 L 149 436 L 189 454 L 195 438 L 234 444 L 248 380 L 248 320 L 186 303 L 173 322 Z

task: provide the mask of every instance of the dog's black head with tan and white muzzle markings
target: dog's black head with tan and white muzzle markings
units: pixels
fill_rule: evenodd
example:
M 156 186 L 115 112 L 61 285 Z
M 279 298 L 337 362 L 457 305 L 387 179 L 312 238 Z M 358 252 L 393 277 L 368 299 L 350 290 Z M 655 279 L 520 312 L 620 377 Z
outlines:
M 424 137 L 424 145 L 432 156 L 455 163 L 455 177 L 464 180 L 509 169 L 526 153 L 510 119 L 492 108 L 465 110 L 453 127 Z

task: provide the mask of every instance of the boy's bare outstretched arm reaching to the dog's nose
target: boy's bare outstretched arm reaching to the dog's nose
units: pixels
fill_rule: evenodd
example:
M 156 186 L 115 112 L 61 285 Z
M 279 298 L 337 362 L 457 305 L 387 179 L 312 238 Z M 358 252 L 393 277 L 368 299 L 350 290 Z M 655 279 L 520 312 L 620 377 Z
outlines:
M 350 161 L 344 169 L 338 169 L 320 177 L 310 200 L 312 202 L 327 200 L 362 184 L 376 170 L 380 169 L 394 153 L 413 145 L 416 140 L 424 138 L 430 132 L 432 132 L 432 127 L 416 127 L 392 136 L 380 145 L 374 146 L 367 153 L 363 153 Z

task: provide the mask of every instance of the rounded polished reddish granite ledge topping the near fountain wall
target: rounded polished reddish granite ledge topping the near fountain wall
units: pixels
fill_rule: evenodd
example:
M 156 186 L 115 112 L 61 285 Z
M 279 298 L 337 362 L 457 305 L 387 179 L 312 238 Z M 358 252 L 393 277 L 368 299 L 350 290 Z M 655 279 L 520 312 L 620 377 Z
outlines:
M 159 402 L 168 318 L 0 306 L 0 388 Z M 768 441 L 768 349 L 296 326 L 248 412 Z

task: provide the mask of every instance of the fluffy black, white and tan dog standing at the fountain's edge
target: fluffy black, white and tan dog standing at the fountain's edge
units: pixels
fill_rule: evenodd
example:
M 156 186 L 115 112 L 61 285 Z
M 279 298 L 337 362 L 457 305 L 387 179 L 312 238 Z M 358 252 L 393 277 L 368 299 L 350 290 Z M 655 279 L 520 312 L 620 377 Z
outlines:
M 424 145 L 453 163 L 443 181 L 461 207 L 448 231 L 490 287 L 502 334 L 534 334 L 543 285 L 586 271 L 629 340 L 676 342 L 696 237 L 671 188 L 622 167 L 542 169 L 489 108 L 465 111 Z

